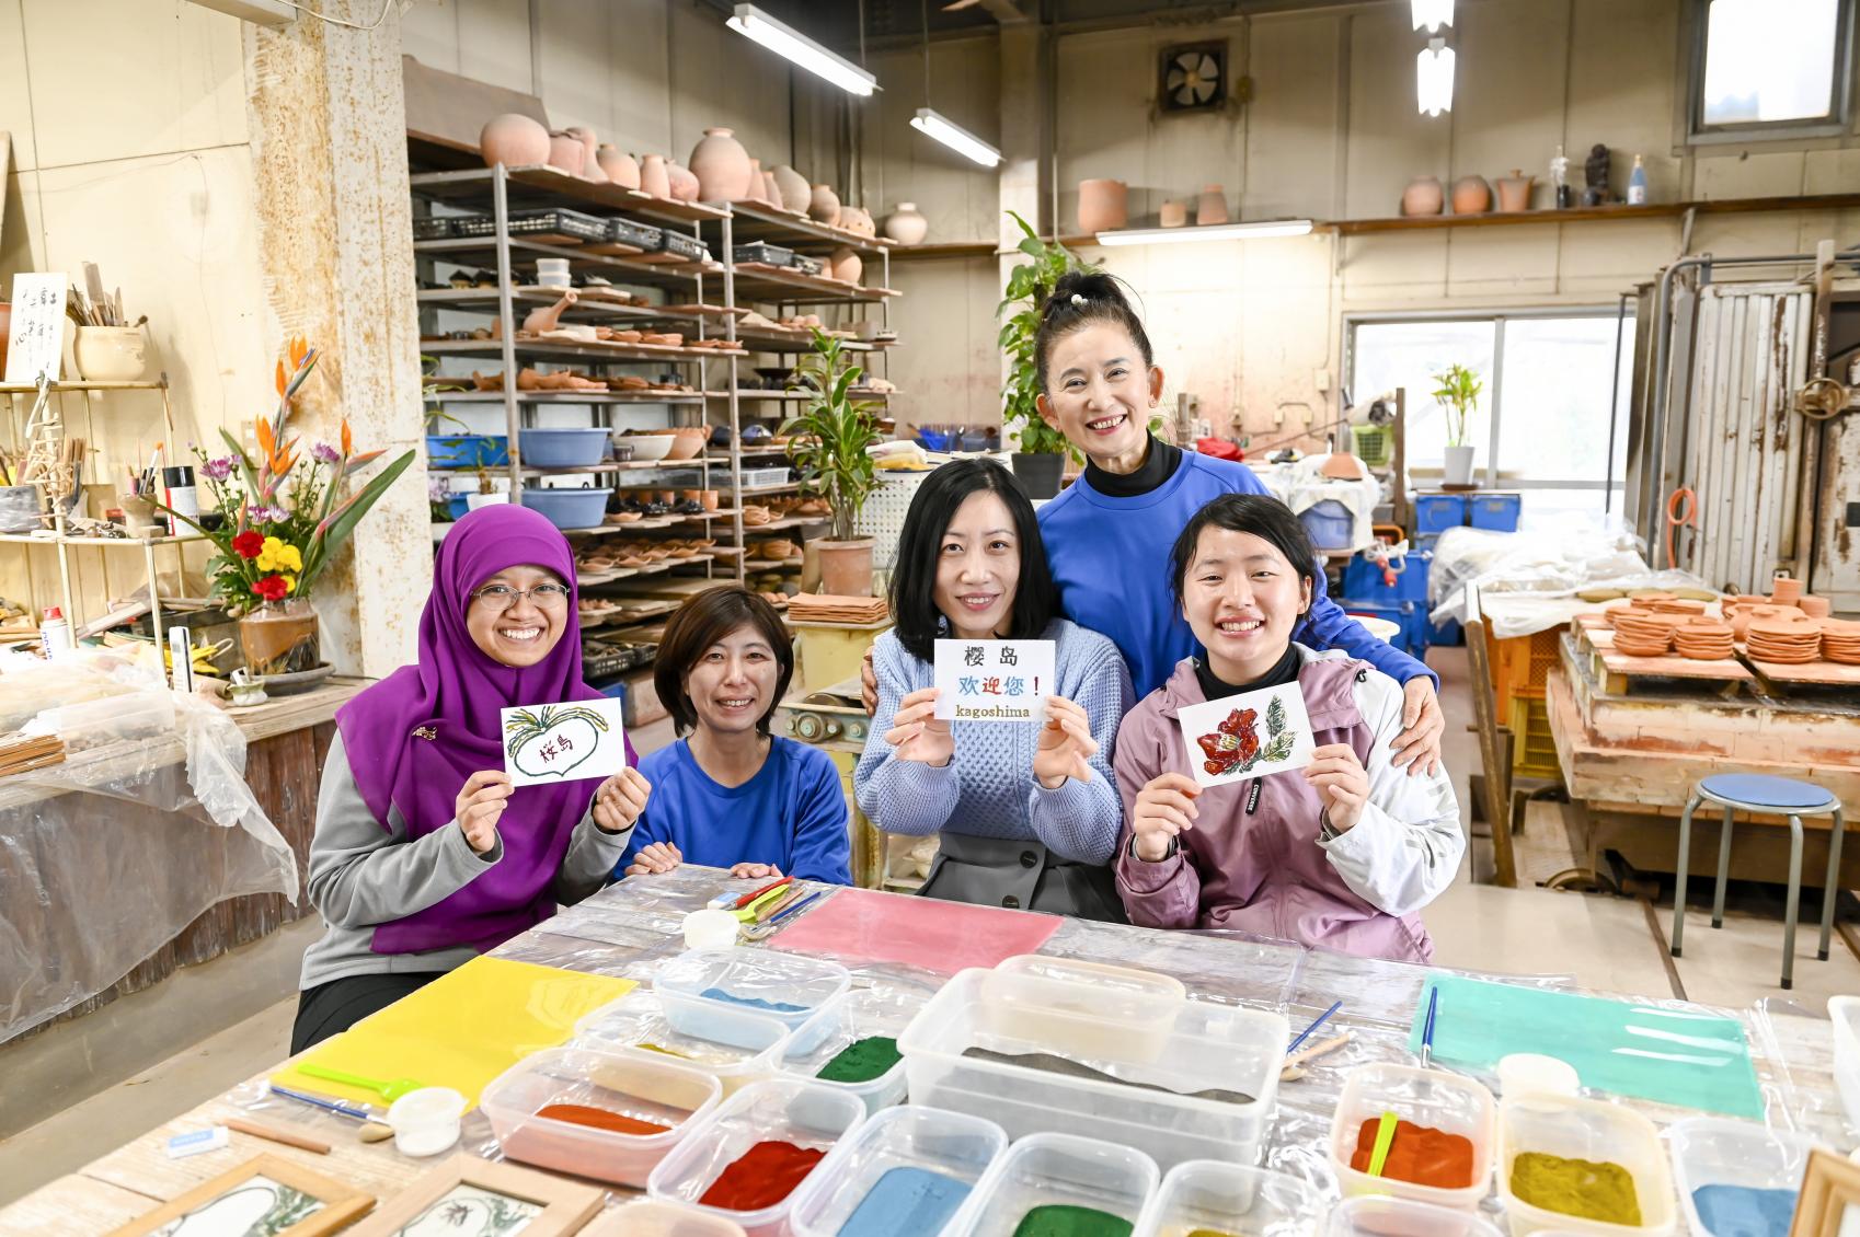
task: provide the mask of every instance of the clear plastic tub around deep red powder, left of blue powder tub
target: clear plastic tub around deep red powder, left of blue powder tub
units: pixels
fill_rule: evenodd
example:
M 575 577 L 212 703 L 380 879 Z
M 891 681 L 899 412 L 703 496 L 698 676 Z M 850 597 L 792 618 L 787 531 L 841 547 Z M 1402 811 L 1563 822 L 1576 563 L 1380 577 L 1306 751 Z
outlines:
M 790 1142 L 798 1148 L 831 1151 L 863 1122 L 865 1105 L 843 1090 L 800 1079 L 751 1083 L 692 1124 L 684 1140 L 653 1168 L 645 1179 L 645 1192 L 664 1202 L 722 1215 L 740 1224 L 750 1237 L 781 1237 L 787 1233 L 794 1194 L 820 1172 L 826 1159 L 815 1164 L 787 1198 L 759 1211 L 707 1207 L 698 1200 L 757 1142 Z

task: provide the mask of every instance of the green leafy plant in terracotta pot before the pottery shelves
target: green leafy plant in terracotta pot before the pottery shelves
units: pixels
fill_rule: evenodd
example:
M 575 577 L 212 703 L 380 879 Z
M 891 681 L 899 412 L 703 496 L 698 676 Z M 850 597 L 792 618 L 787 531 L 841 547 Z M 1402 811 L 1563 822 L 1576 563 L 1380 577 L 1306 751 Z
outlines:
M 833 508 L 828 536 L 817 541 L 820 584 L 846 597 L 872 595 L 872 538 L 857 536 L 859 512 L 878 487 L 878 469 L 867 450 L 878 443 L 878 404 L 852 398 L 865 370 L 846 361 L 841 340 L 813 329 L 815 350 L 796 365 L 792 391 L 807 394 L 800 415 L 781 426 L 794 435 L 789 458 L 802 489 Z

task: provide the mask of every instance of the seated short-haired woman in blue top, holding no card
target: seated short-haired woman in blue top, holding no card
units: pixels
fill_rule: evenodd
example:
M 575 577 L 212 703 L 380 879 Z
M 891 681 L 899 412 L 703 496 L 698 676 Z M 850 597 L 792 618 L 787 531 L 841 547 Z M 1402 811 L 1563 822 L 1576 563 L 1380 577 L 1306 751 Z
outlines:
M 768 733 L 792 677 L 781 616 L 755 593 L 711 588 L 679 606 L 658 644 L 653 686 L 686 737 L 640 761 L 651 794 L 618 876 L 703 863 L 733 876 L 852 884 L 833 759 Z

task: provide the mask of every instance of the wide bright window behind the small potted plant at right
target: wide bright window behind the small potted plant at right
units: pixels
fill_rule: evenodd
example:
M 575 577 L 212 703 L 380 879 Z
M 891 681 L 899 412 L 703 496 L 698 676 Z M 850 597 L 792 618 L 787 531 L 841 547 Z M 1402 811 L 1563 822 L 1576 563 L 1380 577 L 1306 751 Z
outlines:
M 1468 419 L 1477 480 L 1523 491 L 1525 526 L 1601 523 L 1620 512 L 1633 329 L 1633 316 L 1613 309 L 1358 318 L 1347 324 L 1345 368 L 1358 400 L 1408 389 L 1406 450 L 1417 484 L 1438 480 L 1445 461 L 1434 374 L 1455 363 L 1477 372 L 1484 392 Z

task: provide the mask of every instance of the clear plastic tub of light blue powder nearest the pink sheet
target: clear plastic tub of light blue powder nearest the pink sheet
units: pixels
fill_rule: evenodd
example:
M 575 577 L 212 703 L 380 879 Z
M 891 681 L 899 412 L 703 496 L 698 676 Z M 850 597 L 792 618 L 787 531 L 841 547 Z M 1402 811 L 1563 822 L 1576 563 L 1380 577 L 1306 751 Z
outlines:
M 850 986 L 852 975 L 835 962 L 766 949 L 694 949 L 653 977 L 653 991 L 690 997 L 668 1004 L 666 1018 L 703 1040 L 729 1031 L 727 1012 L 761 1014 L 794 1031 Z

